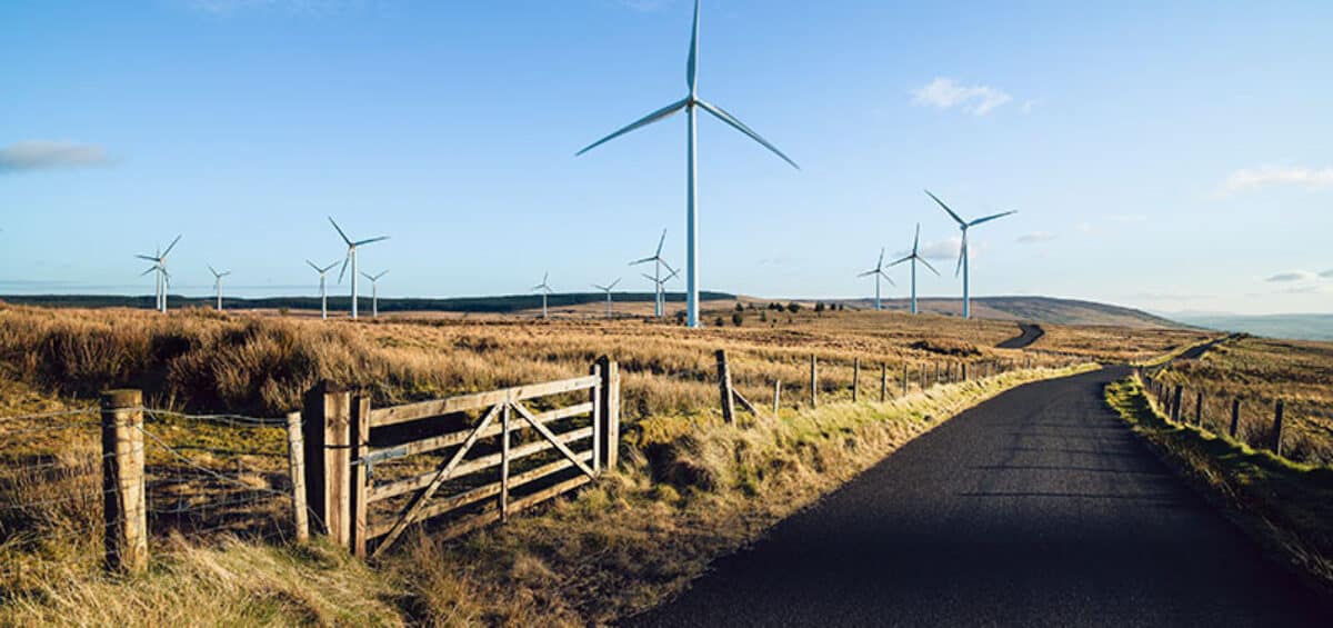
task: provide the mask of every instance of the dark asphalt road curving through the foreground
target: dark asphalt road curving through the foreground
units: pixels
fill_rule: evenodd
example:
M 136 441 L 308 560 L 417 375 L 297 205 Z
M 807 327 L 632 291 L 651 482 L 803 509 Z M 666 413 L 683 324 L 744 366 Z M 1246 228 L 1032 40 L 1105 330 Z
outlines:
M 1101 401 L 1029 384 L 909 443 L 627 625 L 1333 625 Z

